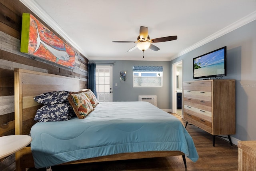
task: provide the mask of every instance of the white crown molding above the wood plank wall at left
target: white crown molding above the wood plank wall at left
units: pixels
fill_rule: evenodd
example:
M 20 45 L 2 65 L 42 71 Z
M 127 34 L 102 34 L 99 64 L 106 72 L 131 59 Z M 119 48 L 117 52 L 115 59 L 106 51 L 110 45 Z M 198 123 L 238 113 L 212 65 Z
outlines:
M 27 8 L 29 8 L 34 14 L 36 14 L 41 20 L 43 20 L 48 26 L 50 26 L 54 31 L 56 31 L 62 38 L 64 38 L 68 43 L 70 43 L 76 50 L 78 50 L 82 55 L 88 58 L 86 52 L 82 50 L 69 36 L 62 30 L 62 28 L 48 15 L 44 10 L 33 0 L 20 0 Z

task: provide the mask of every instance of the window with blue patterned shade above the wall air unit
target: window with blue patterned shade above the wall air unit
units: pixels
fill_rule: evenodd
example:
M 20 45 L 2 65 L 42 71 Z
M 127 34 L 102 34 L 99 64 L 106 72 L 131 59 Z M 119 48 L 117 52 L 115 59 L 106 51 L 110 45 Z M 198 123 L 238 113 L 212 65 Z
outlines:
M 133 87 L 163 87 L 163 67 L 133 66 Z

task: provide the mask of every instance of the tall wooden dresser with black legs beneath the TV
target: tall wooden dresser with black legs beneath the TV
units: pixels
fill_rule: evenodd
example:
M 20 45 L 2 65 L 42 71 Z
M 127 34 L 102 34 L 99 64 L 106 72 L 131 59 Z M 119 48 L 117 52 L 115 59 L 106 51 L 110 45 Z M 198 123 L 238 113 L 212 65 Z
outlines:
M 183 109 L 187 124 L 213 135 L 236 133 L 235 80 L 183 82 Z M 226 138 L 226 137 L 225 137 Z

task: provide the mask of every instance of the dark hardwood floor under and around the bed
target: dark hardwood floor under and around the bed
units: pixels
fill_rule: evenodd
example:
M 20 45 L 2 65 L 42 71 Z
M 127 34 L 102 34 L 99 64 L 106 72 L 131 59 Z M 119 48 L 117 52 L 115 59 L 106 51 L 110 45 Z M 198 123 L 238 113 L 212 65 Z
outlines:
M 185 125 L 185 121 L 178 115 Z M 100 163 L 84 163 L 77 165 L 53 166 L 52 171 L 237 171 L 238 148 L 228 141 L 216 137 L 212 146 L 212 135 L 202 129 L 188 125 L 187 130 L 194 140 L 199 159 L 196 163 L 186 158 L 187 169 L 181 156 L 159 157 L 151 159 L 134 159 L 126 161 L 109 161 Z M 30 168 L 29 171 L 45 171 L 46 169 Z

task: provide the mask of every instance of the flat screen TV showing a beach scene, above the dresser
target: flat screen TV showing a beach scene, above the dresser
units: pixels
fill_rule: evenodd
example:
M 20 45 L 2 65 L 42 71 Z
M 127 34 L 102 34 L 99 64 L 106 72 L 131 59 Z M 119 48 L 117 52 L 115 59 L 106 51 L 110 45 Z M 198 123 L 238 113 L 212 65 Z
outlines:
M 193 59 L 193 79 L 226 76 L 227 47 L 219 48 Z

